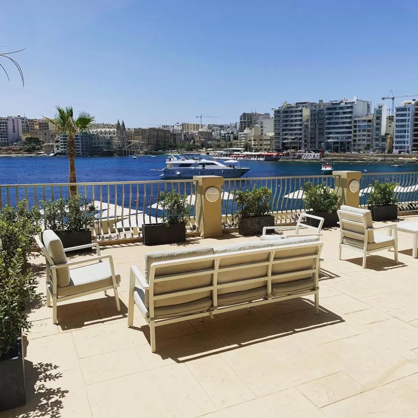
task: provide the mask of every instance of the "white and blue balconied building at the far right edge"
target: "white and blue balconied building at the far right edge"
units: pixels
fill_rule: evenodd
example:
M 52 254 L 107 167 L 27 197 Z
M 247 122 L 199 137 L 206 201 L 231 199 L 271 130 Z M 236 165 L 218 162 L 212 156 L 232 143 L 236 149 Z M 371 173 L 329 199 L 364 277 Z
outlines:
M 415 101 L 404 101 L 400 106 L 395 107 L 394 154 L 409 153 L 412 150 L 414 114 Z M 414 148 L 418 150 L 418 143 L 415 144 Z

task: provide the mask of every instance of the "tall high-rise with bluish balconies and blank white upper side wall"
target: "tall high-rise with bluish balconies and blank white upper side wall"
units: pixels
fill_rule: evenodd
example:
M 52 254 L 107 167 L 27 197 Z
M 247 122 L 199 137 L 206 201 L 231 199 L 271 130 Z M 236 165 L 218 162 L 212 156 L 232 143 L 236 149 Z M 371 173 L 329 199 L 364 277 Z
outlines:
M 334 100 L 325 107 L 325 149 L 331 152 L 351 150 L 353 118 L 370 113 L 371 102 L 353 99 Z

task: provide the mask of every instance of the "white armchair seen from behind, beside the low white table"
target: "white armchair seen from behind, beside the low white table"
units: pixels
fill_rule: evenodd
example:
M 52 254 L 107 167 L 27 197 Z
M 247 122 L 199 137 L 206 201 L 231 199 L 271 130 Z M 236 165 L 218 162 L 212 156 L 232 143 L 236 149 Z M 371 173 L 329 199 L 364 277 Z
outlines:
M 390 250 L 395 253 L 395 263 L 398 263 L 398 232 L 396 224 L 373 227 L 370 210 L 343 205 L 337 210 L 340 224 L 339 260 L 342 247 L 351 248 L 363 253 L 362 267 L 366 268 L 366 257 L 371 252 Z M 389 229 L 389 235 L 375 232 Z

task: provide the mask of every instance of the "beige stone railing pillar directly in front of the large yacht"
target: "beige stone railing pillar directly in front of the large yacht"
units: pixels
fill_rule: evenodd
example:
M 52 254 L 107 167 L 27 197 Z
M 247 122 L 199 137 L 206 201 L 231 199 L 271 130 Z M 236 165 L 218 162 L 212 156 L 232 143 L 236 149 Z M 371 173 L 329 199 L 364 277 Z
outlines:
M 222 237 L 222 199 L 221 186 L 224 178 L 220 176 L 193 176 L 196 182 L 195 222 L 203 238 Z M 205 194 L 209 187 L 219 191 L 217 201 L 209 201 Z M 215 191 L 216 192 L 216 191 Z

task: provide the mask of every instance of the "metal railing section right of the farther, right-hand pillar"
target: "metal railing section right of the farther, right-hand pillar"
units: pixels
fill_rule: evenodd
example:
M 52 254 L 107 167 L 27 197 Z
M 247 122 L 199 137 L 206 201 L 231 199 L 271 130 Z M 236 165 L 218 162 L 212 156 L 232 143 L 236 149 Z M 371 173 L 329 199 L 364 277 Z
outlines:
M 367 207 L 372 187 L 375 182 L 396 183 L 395 195 L 398 198 L 398 212 L 418 212 L 418 172 L 405 173 L 363 173 L 360 180 L 359 206 Z

